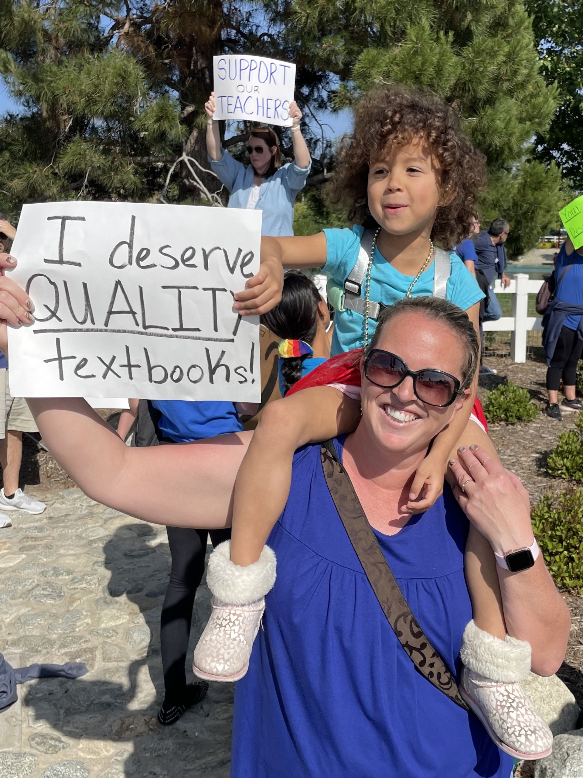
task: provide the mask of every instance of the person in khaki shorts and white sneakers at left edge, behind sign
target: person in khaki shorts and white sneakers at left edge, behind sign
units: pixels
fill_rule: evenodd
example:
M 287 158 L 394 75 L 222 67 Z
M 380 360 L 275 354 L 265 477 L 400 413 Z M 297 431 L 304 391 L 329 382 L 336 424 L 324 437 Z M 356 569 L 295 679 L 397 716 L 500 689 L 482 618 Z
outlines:
M 0 254 L 14 240 L 16 230 L 5 213 L 0 212 Z M 33 415 L 23 398 L 12 397 L 8 383 L 8 361 L 0 352 L 0 464 L 4 486 L 0 489 L 0 510 L 25 510 L 42 513 L 45 504 L 19 489 L 20 465 L 23 461 L 23 433 L 37 433 Z M 0 513 L 0 528 L 11 527 L 12 520 Z

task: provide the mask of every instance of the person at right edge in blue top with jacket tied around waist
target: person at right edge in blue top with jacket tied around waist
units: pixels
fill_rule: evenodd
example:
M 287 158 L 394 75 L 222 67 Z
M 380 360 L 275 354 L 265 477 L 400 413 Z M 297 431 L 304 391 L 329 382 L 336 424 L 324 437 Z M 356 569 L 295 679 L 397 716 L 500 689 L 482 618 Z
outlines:
M 583 352 L 583 247 L 574 250 L 565 240 L 555 262 L 557 287 L 543 317 L 546 391 L 549 401 L 545 413 L 562 421 L 561 411 L 581 411 L 583 404 L 575 397 L 577 363 Z M 563 380 L 564 400 L 559 405 L 559 387 Z

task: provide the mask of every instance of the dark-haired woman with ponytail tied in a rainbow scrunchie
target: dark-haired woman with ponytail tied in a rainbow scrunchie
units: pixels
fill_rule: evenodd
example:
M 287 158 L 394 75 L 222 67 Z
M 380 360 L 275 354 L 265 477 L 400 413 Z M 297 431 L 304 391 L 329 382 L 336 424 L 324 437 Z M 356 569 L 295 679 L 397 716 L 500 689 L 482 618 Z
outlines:
M 285 275 L 281 303 L 261 324 L 284 338 L 278 347 L 279 389 L 289 389 L 330 356 L 330 311 L 318 289 L 299 272 Z

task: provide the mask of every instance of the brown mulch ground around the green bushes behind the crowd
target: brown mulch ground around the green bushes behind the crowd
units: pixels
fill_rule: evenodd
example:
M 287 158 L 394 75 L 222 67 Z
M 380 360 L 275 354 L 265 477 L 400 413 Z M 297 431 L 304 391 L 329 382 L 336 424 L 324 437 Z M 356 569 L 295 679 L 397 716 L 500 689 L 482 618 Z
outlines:
M 497 375 L 480 381 L 478 395 L 484 401 L 487 391 L 498 384 L 511 380 L 527 389 L 532 401 L 543 408 L 546 403 L 545 375 L 546 366 L 539 349 L 532 349 L 533 358 L 524 364 L 516 364 L 509 357 L 486 357 L 488 366 L 497 370 Z M 542 352 L 542 350 L 541 350 Z M 118 412 L 99 411 L 103 419 L 117 421 Z M 504 466 L 522 479 L 529 490 L 532 502 L 538 501 L 544 492 L 557 492 L 564 489 L 565 482 L 560 478 L 550 478 L 546 474 L 546 459 L 557 445 L 560 433 L 574 428 L 576 414 L 565 414 L 563 422 L 549 419 L 542 413 L 532 422 L 524 424 L 490 425 L 490 437 L 493 440 Z M 59 492 L 75 484 L 54 461 L 47 451 L 40 449 L 32 440 L 24 439 L 23 467 L 21 486 L 33 487 L 30 492 L 47 496 L 47 492 Z M 35 488 L 36 487 L 36 488 Z M 573 692 L 578 705 L 583 709 L 583 673 L 581 673 L 581 598 L 565 592 L 564 597 L 571 609 L 572 627 L 567 656 L 557 675 Z M 581 724 L 580 724 L 581 726 Z

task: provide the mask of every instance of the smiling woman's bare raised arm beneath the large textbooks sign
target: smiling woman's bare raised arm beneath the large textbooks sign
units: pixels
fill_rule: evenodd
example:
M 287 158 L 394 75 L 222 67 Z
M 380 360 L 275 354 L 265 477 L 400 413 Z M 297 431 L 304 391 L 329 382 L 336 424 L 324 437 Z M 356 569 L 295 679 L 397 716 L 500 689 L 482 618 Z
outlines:
M 154 524 L 229 526 L 235 478 L 252 433 L 131 448 L 81 398 L 27 403 L 51 454 L 92 499 Z

